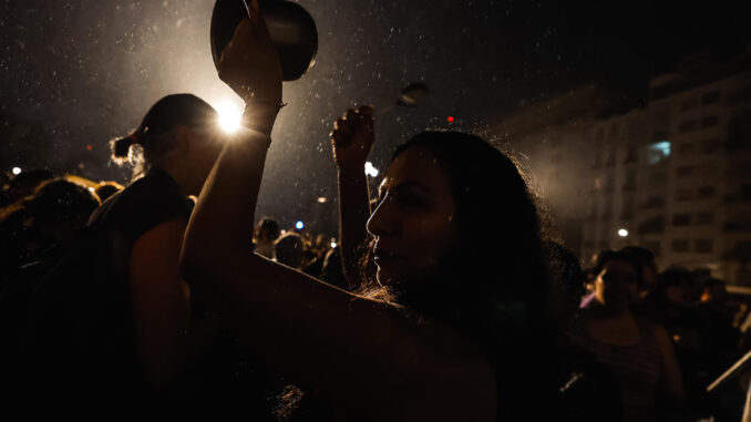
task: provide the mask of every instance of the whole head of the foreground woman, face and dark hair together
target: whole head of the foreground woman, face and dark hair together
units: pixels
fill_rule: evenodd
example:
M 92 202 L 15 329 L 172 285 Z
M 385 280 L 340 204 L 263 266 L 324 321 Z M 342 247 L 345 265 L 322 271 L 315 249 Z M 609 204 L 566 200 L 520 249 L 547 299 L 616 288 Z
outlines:
M 401 145 L 368 231 L 378 282 L 425 313 L 526 321 L 546 302 L 527 185 L 477 136 L 423 132 Z

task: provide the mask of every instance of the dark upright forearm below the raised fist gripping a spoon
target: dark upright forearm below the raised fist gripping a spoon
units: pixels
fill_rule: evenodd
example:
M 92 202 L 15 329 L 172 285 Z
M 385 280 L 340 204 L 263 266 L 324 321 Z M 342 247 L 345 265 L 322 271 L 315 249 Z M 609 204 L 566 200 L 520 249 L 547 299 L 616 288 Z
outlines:
M 339 169 L 339 247 L 342 268 L 350 290 L 361 284 L 359 248 L 367 238 L 370 217 L 370 193 L 363 168 Z

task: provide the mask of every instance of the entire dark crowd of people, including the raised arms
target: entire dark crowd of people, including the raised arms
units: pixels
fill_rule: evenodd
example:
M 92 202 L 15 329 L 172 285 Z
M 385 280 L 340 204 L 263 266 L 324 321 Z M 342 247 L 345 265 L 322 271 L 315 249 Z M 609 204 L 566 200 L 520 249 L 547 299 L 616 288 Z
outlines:
M 125 187 L 2 174 L 16 399 L 269 421 L 740 419 L 741 382 L 706 388 L 751 350 L 743 301 L 637 246 L 583 268 L 481 137 L 413 136 L 371 204 L 374 111 L 350 109 L 331 133 L 338 241 L 256 223 L 282 106 L 256 8 L 219 65 L 244 128 L 223 134 L 210 105 L 174 94 L 112 143 L 134 167 Z

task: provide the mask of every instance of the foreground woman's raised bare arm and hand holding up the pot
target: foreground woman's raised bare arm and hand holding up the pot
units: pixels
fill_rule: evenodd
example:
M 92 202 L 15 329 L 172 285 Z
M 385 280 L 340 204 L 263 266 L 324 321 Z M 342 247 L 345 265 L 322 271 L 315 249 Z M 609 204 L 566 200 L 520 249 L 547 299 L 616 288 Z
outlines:
M 241 65 L 272 68 L 276 56 L 255 1 L 253 10 L 254 31 L 244 22 L 224 59 L 228 65 L 245 59 Z M 235 73 L 223 72 L 223 79 L 240 95 L 250 86 L 244 96 L 250 128 L 227 143 L 204 186 L 184 243 L 185 279 L 268 363 L 301 387 L 319 389 L 357 419 L 492 419 L 490 364 L 453 330 L 248 251 L 276 115 L 276 109 L 253 103 L 277 100 L 254 86 L 281 82 L 269 71 L 228 74 Z

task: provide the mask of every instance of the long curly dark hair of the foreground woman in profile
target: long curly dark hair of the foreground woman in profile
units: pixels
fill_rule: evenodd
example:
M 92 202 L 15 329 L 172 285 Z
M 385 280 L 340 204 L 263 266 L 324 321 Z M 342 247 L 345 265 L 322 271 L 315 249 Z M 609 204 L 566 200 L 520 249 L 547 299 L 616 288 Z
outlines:
M 460 239 L 441 259 L 440 279 L 395 288 L 378 285 L 368 247 L 364 295 L 393 300 L 481 344 L 503 384 L 500 414 L 515 414 L 514 402 L 533 393 L 521 384 L 534 377 L 536 398 L 553 394 L 544 380 L 552 377 L 546 371 L 555 372 L 546 368 L 554 336 L 535 200 L 516 163 L 477 136 L 422 132 L 399 146 L 392 161 L 415 147 L 428 151 L 449 181 Z

